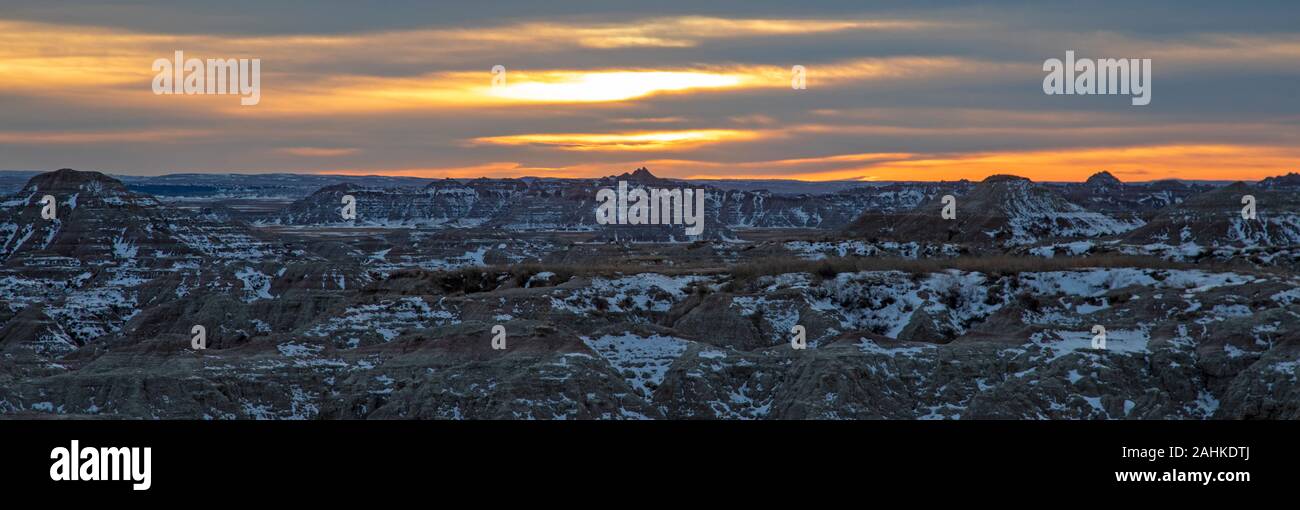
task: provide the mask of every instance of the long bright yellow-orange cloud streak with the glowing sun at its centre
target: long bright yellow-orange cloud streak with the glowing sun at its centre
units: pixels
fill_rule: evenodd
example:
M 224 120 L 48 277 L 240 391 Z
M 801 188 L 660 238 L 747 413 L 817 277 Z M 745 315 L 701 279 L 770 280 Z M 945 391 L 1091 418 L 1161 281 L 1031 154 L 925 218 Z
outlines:
M 924 79 L 940 74 L 997 72 L 1000 66 L 950 57 L 892 57 L 828 62 L 807 68 L 809 87 L 872 81 Z M 542 69 L 494 74 L 443 72 L 420 77 L 335 75 L 266 87 L 255 108 L 221 103 L 234 114 L 354 114 L 545 104 L 623 103 L 666 94 L 789 90 L 790 69 L 775 65 L 716 65 L 673 69 Z M 291 81 L 290 81 L 291 82 Z M 264 81 L 265 83 L 265 81 Z M 190 99 L 190 98 L 182 98 Z

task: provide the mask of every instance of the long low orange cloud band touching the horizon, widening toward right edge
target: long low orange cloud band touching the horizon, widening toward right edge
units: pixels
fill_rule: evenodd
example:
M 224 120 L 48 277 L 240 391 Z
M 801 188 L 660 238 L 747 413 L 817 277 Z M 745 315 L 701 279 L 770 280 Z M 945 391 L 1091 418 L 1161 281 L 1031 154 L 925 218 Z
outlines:
M 649 167 L 676 178 L 789 178 L 801 181 L 979 181 L 1010 173 L 1035 181 L 1083 181 L 1109 170 L 1127 181 L 1162 178 L 1254 181 L 1294 172 L 1300 148 L 1231 144 L 1162 144 L 1143 147 L 1061 148 L 927 155 L 910 152 L 842 154 L 762 161 L 682 159 L 608 160 L 563 167 L 493 163 L 478 167 L 329 173 L 412 177 L 603 177 Z

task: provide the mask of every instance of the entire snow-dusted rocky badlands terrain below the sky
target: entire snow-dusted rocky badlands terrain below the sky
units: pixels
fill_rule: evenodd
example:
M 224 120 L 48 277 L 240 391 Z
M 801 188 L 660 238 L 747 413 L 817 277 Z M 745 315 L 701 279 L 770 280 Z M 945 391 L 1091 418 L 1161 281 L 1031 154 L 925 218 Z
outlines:
M 0 187 L 0 418 L 1300 419 L 1300 174 Z

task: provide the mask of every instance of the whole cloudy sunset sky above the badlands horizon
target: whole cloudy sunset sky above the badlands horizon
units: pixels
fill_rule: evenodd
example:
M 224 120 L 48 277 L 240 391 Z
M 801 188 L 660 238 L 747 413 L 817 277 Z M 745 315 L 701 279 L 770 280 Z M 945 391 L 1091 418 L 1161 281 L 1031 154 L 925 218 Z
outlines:
M 702 4 L 0 1 L 0 168 L 647 167 L 806 181 L 1300 170 L 1294 1 Z M 260 100 L 155 94 L 153 62 L 177 51 L 259 59 Z M 1045 94 L 1044 61 L 1067 51 L 1150 59 L 1150 104 Z M 794 66 L 806 88 L 792 87 Z

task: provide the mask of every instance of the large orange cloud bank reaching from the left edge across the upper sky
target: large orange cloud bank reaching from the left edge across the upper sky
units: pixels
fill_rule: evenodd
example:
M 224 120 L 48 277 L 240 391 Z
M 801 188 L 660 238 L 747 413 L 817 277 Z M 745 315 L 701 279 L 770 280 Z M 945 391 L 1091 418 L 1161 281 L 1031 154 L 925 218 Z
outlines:
M 322 73 L 351 62 L 411 66 L 481 52 L 540 51 L 559 46 L 615 48 L 693 46 L 702 39 L 775 36 L 846 30 L 932 26 L 910 21 L 653 18 L 629 23 L 523 23 L 484 29 L 408 30 L 347 35 L 213 36 L 139 34 L 92 26 L 0 20 L 0 94 L 56 98 L 124 109 L 188 111 L 226 116 L 325 116 L 395 111 L 447 111 L 541 104 L 619 103 L 663 94 L 790 86 L 789 65 L 663 66 L 649 69 L 517 69 L 494 86 L 493 73 L 438 70 L 420 75 Z M 628 39 L 630 38 L 630 39 Z M 56 43 L 57 42 L 57 43 Z M 153 95 L 155 59 L 174 51 L 192 59 L 261 59 L 261 99 L 240 107 L 233 96 Z M 484 60 L 488 61 L 488 60 Z M 508 62 L 507 62 L 508 64 Z M 923 79 L 976 70 L 952 57 L 854 59 L 809 64 L 809 87 L 880 79 Z M 987 69 L 993 72 L 996 69 Z

